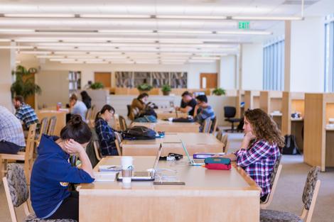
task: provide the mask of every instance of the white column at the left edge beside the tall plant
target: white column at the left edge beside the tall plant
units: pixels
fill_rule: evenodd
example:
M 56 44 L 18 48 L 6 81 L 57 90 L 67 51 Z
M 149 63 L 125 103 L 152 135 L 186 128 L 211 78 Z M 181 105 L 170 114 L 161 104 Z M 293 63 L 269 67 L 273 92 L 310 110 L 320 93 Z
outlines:
M 11 46 L 14 43 L 0 43 L 1 46 Z M 0 49 L 0 105 L 12 110 L 11 103 L 11 70 L 15 69 L 15 51 Z

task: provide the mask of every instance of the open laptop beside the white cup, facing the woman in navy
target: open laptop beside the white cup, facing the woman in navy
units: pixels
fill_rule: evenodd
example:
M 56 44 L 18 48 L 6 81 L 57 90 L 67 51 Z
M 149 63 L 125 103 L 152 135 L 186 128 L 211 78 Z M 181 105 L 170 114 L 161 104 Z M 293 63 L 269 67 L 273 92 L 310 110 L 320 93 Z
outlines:
M 158 166 L 159 157 L 162 151 L 162 143 L 158 148 L 158 152 L 156 153 L 156 160 L 154 160 L 153 170 L 152 171 L 132 171 L 132 181 L 153 181 L 154 174 L 156 173 L 156 167 Z M 117 173 L 116 175 L 117 181 L 122 181 L 122 173 Z

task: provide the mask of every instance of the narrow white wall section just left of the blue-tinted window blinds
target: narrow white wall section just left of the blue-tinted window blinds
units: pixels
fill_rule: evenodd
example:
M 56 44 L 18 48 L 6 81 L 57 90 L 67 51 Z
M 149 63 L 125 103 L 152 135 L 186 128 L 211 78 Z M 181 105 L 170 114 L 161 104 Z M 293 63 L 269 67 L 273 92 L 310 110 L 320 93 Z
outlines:
M 242 44 L 242 89 L 261 90 L 263 82 L 263 45 Z

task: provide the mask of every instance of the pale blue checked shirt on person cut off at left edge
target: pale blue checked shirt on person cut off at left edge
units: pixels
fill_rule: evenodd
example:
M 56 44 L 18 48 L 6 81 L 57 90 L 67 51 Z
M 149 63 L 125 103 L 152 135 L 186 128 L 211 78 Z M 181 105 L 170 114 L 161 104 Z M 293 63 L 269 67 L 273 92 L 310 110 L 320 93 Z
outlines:
M 20 121 L 4 106 L 0 106 L 0 141 L 2 140 L 26 146 Z

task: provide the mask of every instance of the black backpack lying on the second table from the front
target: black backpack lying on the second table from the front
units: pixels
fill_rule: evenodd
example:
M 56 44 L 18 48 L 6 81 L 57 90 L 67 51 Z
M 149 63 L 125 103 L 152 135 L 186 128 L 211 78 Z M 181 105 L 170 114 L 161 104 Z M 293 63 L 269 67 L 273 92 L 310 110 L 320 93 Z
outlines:
M 156 131 L 146 126 L 133 126 L 122 132 L 125 140 L 154 140 L 156 139 Z

